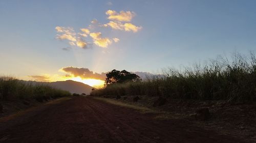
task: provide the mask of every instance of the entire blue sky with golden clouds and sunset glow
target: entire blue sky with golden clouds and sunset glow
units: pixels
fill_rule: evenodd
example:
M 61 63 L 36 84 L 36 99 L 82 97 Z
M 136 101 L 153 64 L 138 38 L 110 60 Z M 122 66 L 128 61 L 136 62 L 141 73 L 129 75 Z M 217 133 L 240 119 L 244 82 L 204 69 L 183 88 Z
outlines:
M 103 85 L 256 45 L 256 1 L 0 0 L 0 74 Z

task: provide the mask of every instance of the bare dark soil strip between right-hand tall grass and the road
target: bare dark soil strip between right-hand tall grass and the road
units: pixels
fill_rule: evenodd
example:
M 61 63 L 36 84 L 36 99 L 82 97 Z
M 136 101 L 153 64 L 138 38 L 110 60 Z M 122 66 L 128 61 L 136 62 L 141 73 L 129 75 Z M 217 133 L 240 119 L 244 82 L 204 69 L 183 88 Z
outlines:
M 222 134 L 239 136 L 248 142 L 256 142 L 256 102 L 227 102 L 223 100 L 180 100 L 166 98 L 162 106 L 155 106 L 159 97 L 140 96 L 141 100 L 133 102 L 133 97 L 127 96 L 121 102 L 146 106 L 158 111 L 166 111 L 180 119 L 185 119 L 205 129 L 217 130 Z M 199 121 L 195 118 L 198 109 L 208 108 L 210 119 Z

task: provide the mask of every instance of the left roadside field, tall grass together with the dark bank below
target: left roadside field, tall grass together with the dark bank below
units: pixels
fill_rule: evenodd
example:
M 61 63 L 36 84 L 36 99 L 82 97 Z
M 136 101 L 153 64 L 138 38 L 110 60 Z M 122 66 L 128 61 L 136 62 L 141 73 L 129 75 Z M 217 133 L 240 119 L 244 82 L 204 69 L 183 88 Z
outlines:
M 32 84 L 13 77 L 0 78 L 0 117 L 52 99 L 70 96 L 46 84 Z

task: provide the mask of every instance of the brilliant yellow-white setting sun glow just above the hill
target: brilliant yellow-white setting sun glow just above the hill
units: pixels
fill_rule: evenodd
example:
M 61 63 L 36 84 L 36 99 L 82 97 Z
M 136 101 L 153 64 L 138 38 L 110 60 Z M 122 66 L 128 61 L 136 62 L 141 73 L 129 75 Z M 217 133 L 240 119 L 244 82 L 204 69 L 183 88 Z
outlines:
M 92 78 L 82 79 L 81 77 L 73 77 L 71 78 L 71 80 L 88 84 L 94 88 L 103 88 L 105 83 L 104 80 L 92 79 Z

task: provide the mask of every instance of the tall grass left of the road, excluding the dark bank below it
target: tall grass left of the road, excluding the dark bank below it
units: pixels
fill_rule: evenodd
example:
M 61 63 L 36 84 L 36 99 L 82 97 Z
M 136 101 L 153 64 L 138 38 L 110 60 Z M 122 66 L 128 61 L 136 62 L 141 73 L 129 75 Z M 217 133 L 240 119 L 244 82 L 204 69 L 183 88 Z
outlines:
M 46 84 L 32 84 L 13 77 L 0 77 L 0 100 L 36 99 L 38 101 L 70 96 L 67 91 L 58 90 Z

